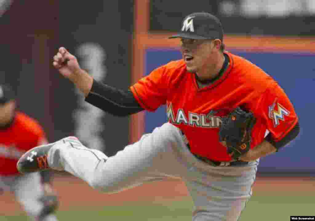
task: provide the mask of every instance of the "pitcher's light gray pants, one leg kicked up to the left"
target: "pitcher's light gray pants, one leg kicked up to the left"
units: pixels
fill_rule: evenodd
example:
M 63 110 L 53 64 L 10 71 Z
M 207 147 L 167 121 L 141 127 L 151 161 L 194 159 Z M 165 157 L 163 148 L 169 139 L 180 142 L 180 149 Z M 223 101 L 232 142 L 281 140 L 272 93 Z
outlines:
M 108 193 L 146 181 L 180 177 L 193 198 L 195 221 L 237 220 L 251 196 L 258 165 L 210 166 L 191 154 L 179 129 L 169 123 L 112 157 L 65 138 L 50 149 L 48 160 L 53 169 L 66 170 Z

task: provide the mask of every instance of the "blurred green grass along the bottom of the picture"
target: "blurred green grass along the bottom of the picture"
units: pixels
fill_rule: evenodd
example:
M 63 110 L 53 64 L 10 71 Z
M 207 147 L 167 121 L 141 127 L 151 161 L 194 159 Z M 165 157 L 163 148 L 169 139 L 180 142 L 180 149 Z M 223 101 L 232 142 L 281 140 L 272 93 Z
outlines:
M 239 221 L 288 221 L 290 215 L 315 215 L 315 193 L 281 192 L 277 195 L 254 195 L 247 203 Z M 192 214 L 192 202 L 152 202 L 128 203 L 123 206 L 99 208 L 80 207 L 68 211 L 58 211 L 60 221 L 189 221 Z M 2 216 L 0 221 L 29 221 L 26 216 Z

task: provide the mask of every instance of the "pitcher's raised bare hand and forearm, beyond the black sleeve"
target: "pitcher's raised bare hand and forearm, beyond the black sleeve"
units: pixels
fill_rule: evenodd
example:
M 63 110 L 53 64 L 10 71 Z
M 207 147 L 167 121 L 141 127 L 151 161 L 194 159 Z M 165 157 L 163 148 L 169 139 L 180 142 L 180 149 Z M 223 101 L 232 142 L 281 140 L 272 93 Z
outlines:
M 85 96 L 92 88 L 93 78 L 80 68 L 77 58 L 70 54 L 66 48 L 60 47 L 54 56 L 53 66 L 64 76 L 71 80 Z

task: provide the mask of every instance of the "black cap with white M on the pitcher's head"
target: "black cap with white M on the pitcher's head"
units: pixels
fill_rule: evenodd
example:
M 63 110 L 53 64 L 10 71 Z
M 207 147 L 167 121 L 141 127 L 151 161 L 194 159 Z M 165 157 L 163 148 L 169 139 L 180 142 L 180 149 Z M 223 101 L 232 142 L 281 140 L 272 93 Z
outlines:
M 223 41 L 223 28 L 220 20 L 210 13 L 192 13 L 183 20 L 180 32 L 169 38 L 220 39 Z

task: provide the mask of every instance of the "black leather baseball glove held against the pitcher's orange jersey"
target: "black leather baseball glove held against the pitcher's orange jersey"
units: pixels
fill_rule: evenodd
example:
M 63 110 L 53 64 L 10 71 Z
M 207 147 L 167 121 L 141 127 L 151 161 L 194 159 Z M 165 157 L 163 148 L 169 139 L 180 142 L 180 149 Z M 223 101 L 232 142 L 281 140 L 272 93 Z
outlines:
M 219 141 L 226 142 L 227 153 L 233 153 L 233 159 L 238 159 L 249 151 L 255 121 L 253 113 L 243 111 L 240 107 L 222 118 Z

